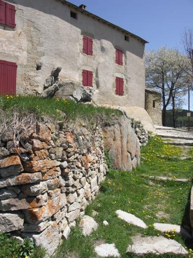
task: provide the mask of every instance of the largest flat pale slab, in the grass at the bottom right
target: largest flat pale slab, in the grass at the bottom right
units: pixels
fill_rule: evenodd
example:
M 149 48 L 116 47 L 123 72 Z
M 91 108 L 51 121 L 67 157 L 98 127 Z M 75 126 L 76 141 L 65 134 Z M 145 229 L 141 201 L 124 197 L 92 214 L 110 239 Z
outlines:
M 128 246 L 127 253 L 133 252 L 139 255 L 145 253 L 174 253 L 174 254 L 187 254 L 188 252 L 181 244 L 173 239 L 167 239 L 163 236 L 134 236 L 132 237 L 133 244 Z

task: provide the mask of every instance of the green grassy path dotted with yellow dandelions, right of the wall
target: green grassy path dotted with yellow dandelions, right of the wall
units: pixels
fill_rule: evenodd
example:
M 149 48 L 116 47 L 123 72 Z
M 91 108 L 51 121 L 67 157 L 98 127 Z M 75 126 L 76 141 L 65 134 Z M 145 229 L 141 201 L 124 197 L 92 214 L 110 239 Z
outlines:
M 168 148 L 168 149 L 167 149 Z M 149 161 L 149 155 L 154 151 L 154 159 Z M 102 183 L 101 192 L 98 197 L 86 209 L 86 215 L 92 216 L 92 210 L 99 214 L 95 220 L 99 223 L 99 228 L 90 236 L 82 236 L 80 230 L 76 226 L 67 241 L 63 241 L 58 248 L 54 258 L 95 258 L 94 246 L 98 243 L 115 243 L 119 249 L 122 258 L 139 257 L 135 254 L 126 254 L 129 244 L 132 243 L 132 236 L 141 234 L 142 236 L 155 236 L 161 233 L 156 231 L 152 225 L 155 222 L 172 223 L 172 224 L 189 224 L 188 207 L 189 207 L 189 192 L 191 182 L 181 183 L 173 181 L 150 181 L 148 178 L 142 178 L 144 172 L 150 173 L 155 171 L 158 175 L 166 174 L 162 171 L 167 163 L 168 173 L 173 174 L 173 164 L 171 161 L 156 158 L 157 153 L 163 155 L 163 151 L 168 156 L 180 155 L 180 149 L 176 147 L 164 147 L 164 144 L 159 138 L 151 138 L 149 144 L 143 148 L 142 153 L 145 154 L 145 160 L 142 166 L 138 167 L 132 173 L 125 171 L 110 170 L 107 179 Z M 153 163 L 153 165 L 152 165 Z M 191 163 L 176 163 L 176 168 L 179 168 L 178 176 L 184 176 L 183 170 L 188 166 L 185 172 L 186 177 L 191 177 Z M 190 166 L 190 167 L 189 167 Z M 156 167 L 159 172 L 156 171 Z M 181 170 L 182 169 L 182 170 Z M 175 170 L 176 171 L 176 170 Z M 137 226 L 129 225 L 126 222 L 118 219 L 116 210 L 132 213 L 144 220 L 148 225 L 148 229 L 141 229 Z M 160 214 L 160 212 L 162 212 Z M 159 213 L 159 217 L 156 215 Z M 107 220 L 109 226 L 105 227 L 103 221 Z M 162 233 L 164 235 L 164 233 Z M 174 239 L 185 244 L 188 243 L 179 235 L 175 234 Z M 157 257 L 154 254 L 143 255 L 142 257 Z M 180 255 L 164 254 L 159 257 L 184 257 Z

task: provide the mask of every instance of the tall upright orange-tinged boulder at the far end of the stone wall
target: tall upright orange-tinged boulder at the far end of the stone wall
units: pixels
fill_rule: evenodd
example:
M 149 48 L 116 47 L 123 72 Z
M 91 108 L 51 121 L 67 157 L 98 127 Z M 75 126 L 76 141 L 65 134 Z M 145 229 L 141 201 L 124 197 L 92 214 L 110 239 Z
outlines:
M 103 125 L 103 139 L 115 169 L 131 171 L 140 164 L 140 143 L 126 115 Z

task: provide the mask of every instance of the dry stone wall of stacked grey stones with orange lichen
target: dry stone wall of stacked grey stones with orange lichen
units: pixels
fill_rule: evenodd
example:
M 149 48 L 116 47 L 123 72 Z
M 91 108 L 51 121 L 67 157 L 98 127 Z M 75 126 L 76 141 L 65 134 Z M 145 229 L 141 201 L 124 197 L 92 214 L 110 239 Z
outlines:
M 0 142 L 0 231 L 30 237 L 52 254 L 99 192 L 107 166 L 100 128 L 77 133 L 37 125 Z

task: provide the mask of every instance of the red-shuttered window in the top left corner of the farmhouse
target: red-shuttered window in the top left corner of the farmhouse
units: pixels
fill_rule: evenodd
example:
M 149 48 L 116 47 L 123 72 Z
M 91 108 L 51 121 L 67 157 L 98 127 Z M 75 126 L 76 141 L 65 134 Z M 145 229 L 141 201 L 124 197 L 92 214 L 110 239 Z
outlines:
M 16 27 L 16 7 L 0 0 L 0 24 Z

